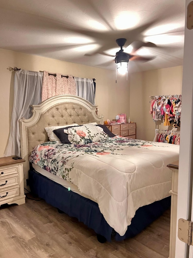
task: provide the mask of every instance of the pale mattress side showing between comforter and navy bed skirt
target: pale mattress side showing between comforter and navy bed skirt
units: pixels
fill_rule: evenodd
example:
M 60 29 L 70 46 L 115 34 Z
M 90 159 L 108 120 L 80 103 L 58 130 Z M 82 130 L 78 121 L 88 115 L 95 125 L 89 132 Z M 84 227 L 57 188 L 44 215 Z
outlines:
M 77 194 L 80 194 L 81 196 L 87 198 L 87 199 L 90 199 L 92 201 L 95 201 L 92 197 L 84 194 L 84 193 L 81 193 L 79 190 L 78 190 L 78 186 L 72 184 L 71 182 L 69 181 L 66 181 L 66 180 L 63 180 L 62 178 L 59 178 L 57 177 L 56 175 L 48 172 L 47 170 L 43 169 L 43 168 L 40 168 L 38 165 L 36 164 L 33 164 L 32 163 L 32 167 L 34 168 L 34 170 L 38 173 L 40 173 L 41 175 L 49 178 L 50 180 L 58 183 L 59 185 L 62 185 L 64 186 L 65 188 L 69 189 L 70 188 L 70 191 L 73 191 L 74 193 L 77 193 Z

